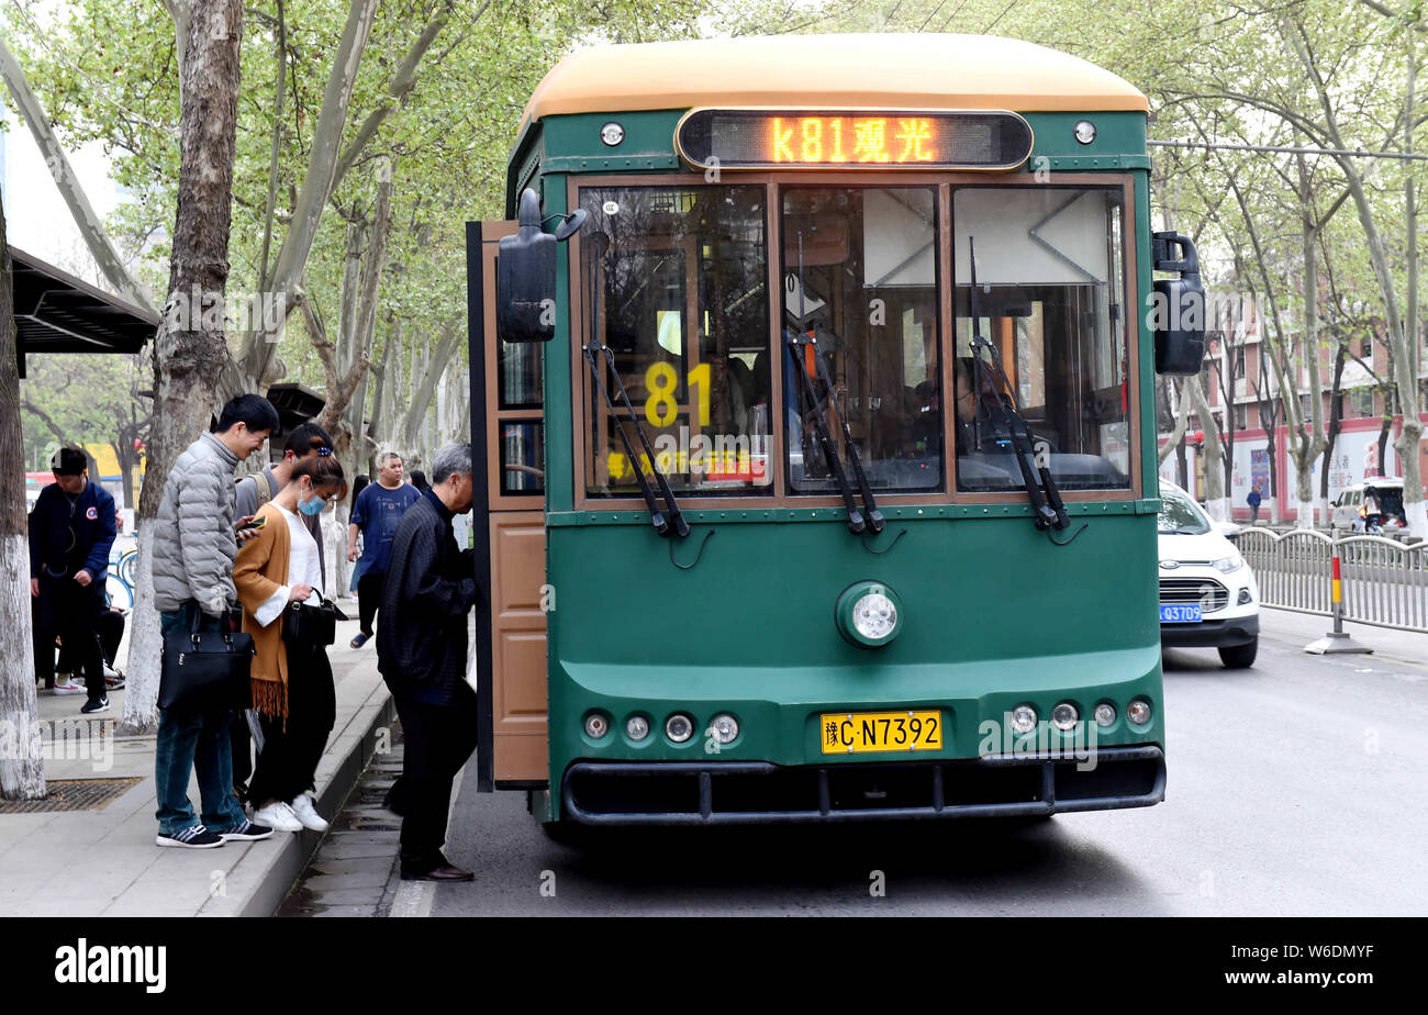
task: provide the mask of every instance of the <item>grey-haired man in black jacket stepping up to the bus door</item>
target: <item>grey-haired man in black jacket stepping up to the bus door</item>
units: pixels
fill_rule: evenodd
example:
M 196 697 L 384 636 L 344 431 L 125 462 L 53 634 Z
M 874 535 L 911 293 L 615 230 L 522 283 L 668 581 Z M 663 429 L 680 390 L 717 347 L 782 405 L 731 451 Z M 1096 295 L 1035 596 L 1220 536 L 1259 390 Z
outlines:
M 406 881 L 471 881 L 447 862 L 451 779 L 476 748 L 476 691 L 466 680 L 467 614 L 476 605 L 470 554 L 451 518 L 471 510 L 471 445 L 447 444 L 431 487 L 403 515 L 381 590 L 377 668 L 406 735 L 406 764 L 388 805 L 403 815 Z

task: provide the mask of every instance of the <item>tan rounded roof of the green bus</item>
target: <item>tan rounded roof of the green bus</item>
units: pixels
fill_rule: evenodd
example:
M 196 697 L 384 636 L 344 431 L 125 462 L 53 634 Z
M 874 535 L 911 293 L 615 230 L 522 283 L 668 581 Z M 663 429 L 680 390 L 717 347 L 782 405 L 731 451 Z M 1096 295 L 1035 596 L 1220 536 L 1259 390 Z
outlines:
M 1137 87 L 1068 53 L 997 36 L 888 33 L 578 50 L 545 74 L 523 124 L 701 106 L 1150 111 Z

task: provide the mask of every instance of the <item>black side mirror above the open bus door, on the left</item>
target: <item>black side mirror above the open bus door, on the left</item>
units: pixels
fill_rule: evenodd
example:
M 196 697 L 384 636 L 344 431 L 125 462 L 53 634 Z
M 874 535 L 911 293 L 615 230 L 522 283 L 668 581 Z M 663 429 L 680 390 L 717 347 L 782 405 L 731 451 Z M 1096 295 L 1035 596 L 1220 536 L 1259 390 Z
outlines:
M 516 236 L 496 246 L 496 334 L 501 341 L 533 343 L 555 337 L 555 244 L 585 221 L 577 208 L 554 234 L 541 230 L 540 197 L 521 191 Z

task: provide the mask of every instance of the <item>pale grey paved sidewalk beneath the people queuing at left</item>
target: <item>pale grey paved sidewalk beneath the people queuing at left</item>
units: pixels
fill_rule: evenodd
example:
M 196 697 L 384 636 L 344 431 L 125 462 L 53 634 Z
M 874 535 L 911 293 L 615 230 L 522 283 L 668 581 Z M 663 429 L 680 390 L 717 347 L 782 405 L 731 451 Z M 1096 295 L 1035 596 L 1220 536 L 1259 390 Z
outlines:
M 346 605 L 346 604 L 344 604 Z M 351 611 L 356 612 L 356 611 Z M 337 722 L 317 767 L 317 809 L 334 815 L 371 758 L 394 710 L 377 674 L 376 647 L 351 650 L 357 621 L 338 624 L 328 650 L 337 684 Z M 101 739 L 69 759 L 46 759 L 47 781 L 119 779 L 134 784 L 97 809 L 0 814 L 0 916 L 267 916 L 321 842 L 317 832 L 277 832 L 261 842 L 217 849 L 154 845 L 154 737 L 113 738 L 124 691 L 96 717 Z M 40 719 L 79 722 L 84 695 L 40 692 Z M 76 729 L 77 727 L 70 727 Z M 381 735 L 386 742 L 386 735 Z M 93 744 L 93 747 L 91 747 Z M 89 784 L 93 785 L 93 784 Z M 84 787 L 79 787 L 84 788 Z M 73 792 L 71 788 L 66 787 Z M 197 779 L 188 798 L 198 805 Z

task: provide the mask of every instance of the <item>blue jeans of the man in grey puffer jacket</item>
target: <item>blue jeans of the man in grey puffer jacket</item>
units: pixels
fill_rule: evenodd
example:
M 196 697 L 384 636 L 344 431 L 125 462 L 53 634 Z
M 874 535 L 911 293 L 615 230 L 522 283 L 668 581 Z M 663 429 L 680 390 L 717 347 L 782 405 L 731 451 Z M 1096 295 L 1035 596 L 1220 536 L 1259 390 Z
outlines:
M 186 602 L 178 610 L 160 614 L 164 634 L 193 624 L 198 604 Z M 203 615 L 198 630 L 217 631 L 220 621 Z M 231 832 L 247 815 L 233 795 L 233 748 L 228 728 L 231 708 L 159 710 L 159 742 L 154 755 L 154 782 L 159 795 L 159 832 L 174 835 L 198 824 L 188 802 L 188 772 L 198 769 L 198 799 L 203 804 L 203 824 L 213 832 Z

